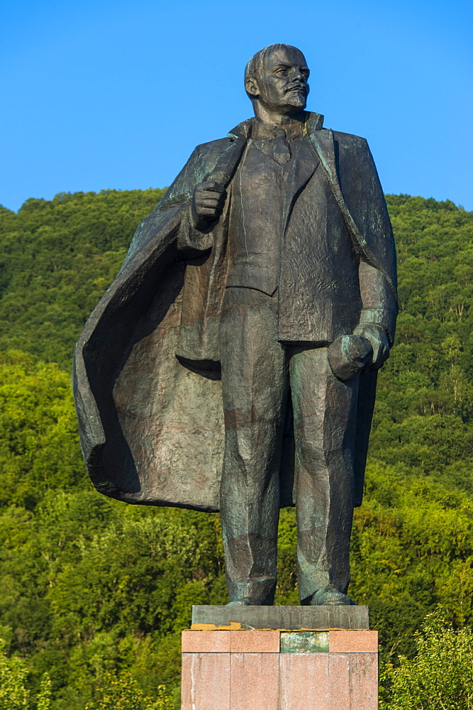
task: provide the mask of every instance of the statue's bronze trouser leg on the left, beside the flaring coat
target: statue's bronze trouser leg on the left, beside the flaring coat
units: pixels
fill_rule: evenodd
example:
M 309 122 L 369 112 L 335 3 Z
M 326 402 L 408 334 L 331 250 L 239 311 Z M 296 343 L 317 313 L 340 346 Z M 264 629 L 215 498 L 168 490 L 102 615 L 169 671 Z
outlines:
M 272 604 L 276 586 L 279 465 L 288 388 L 277 342 L 277 300 L 228 288 L 220 329 L 225 455 L 223 549 L 230 601 Z

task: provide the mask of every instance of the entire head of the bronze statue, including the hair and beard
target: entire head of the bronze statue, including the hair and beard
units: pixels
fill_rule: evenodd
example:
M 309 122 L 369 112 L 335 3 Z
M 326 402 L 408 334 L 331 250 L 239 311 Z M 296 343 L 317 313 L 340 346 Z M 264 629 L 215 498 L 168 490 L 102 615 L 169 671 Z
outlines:
M 296 47 L 274 44 L 257 52 L 246 65 L 245 90 L 255 113 L 291 116 L 306 108 L 309 70 Z

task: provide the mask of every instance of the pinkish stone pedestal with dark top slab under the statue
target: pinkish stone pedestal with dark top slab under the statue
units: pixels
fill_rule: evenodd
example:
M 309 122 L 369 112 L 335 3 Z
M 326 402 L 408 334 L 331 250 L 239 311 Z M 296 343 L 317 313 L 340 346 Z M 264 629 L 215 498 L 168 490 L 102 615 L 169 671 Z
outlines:
M 210 609 L 194 611 L 202 608 Z M 294 610 L 304 607 L 213 609 L 214 618 L 228 624 L 212 626 L 206 612 L 206 621 L 195 621 L 191 630 L 182 632 L 182 710 L 377 709 L 377 631 L 320 626 L 301 630 L 304 624 Z M 252 616 L 247 611 L 251 609 L 264 609 L 267 621 L 274 611 L 271 625 L 247 630 L 250 618 L 256 621 L 261 613 Z M 336 608 L 313 609 L 312 620 L 321 618 L 321 609 L 328 616 L 336 613 Z M 197 613 L 196 618 L 202 616 Z M 295 618 L 295 628 L 273 628 L 289 618 Z M 357 618 L 352 614 L 352 623 Z

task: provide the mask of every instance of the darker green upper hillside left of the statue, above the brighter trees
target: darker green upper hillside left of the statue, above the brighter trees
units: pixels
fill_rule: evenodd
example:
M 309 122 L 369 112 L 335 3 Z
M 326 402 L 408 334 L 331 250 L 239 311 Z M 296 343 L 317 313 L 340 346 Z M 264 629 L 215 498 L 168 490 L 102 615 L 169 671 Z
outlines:
M 164 190 L 104 190 L 0 206 L 0 349 L 69 368 L 77 334 Z

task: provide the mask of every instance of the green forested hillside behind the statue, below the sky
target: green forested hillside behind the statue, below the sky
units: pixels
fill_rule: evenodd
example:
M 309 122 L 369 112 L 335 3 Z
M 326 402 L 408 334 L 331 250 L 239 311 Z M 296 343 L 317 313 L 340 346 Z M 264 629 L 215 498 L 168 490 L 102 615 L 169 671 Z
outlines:
M 72 348 L 161 195 L 77 193 L 0 211 L 0 638 L 33 693 L 48 672 L 52 710 L 101 710 L 101 688 L 131 677 L 135 694 L 156 699 L 165 685 L 159 707 L 168 696 L 177 707 L 191 604 L 226 603 L 218 516 L 103 498 L 79 452 Z M 388 204 L 401 311 L 350 594 L 396 665 L 439 604 L 453 628 L 473 623 L 473 214 L 407 195 Z M 295 540 L 284 510 L 277 603 L 298 603 Z

